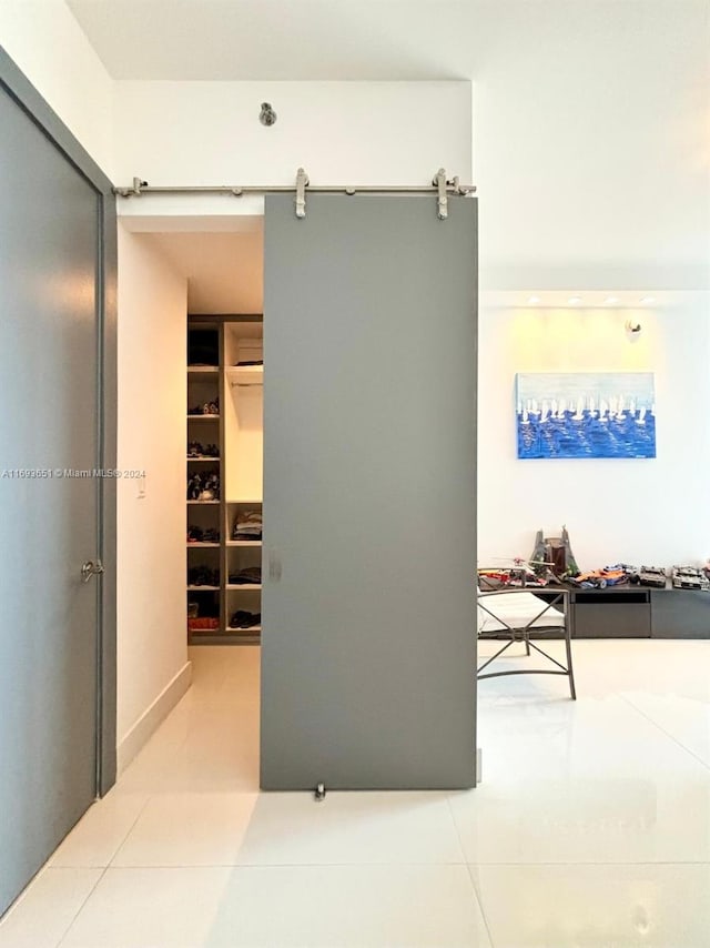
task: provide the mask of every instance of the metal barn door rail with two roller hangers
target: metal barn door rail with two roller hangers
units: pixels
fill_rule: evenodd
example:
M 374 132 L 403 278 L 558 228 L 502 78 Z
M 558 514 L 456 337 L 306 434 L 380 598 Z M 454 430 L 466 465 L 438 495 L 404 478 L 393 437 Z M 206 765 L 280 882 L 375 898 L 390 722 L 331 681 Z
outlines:
M 296 218 L 303 220 L 306 215 L 306 191 L 311 194 L 436 194 L 437 216 L 445 221 L 448 216 L 449 198 L 469 196 L 476 192 L 475 184 L 460 184 L 458 178 L 447 178 L 446 171 L 439 168 L 429 185 L 387 185 L 387 184 L 316 184 L 311 185 L 305 169 L 296 172 L 296 183 L 273 186 L 246 184 L 236 185 L 151 185 L 142 178 L 134 178 L 129 188 L 114 188 L 114 194 L 120 198 L 141 198 L 143 194 L 225 194 L 230 198 L 242 198 L 245 194 L 293 194 L 295 191 Z

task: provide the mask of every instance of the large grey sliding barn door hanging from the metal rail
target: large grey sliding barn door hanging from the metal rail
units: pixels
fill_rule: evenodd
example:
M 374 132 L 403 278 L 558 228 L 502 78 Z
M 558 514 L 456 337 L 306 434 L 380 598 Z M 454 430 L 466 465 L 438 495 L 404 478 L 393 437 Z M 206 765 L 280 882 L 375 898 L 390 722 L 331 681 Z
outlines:
M 264 789 L 475 784 L 476 202 L 266 199 Z

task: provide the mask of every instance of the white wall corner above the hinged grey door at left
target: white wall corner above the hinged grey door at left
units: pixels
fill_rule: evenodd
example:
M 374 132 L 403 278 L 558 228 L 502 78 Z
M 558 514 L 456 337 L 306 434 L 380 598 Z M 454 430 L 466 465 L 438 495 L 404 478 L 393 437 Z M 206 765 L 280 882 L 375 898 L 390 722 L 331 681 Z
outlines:
M 111 178 L 114 83 L 64 0 L 0 0 L 0 46 Z

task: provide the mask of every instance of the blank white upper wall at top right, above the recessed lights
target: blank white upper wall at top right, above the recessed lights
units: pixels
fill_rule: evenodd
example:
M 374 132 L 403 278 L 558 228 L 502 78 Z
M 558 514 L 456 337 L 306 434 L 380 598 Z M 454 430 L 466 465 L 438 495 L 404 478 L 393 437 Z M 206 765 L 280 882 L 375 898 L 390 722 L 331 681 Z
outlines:
M 710 4 L 506 0 L 480 26 L 481 286 L 710 288 Z

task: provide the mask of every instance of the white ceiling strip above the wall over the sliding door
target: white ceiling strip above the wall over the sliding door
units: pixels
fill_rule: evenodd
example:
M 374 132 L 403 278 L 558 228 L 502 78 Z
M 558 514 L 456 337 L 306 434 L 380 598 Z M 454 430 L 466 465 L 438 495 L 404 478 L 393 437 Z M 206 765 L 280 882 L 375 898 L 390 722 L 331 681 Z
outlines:
M 542 2 L 549 12 L 570 0 Z M 484 51 L 539 7 L 539 0 L 67 3 L 109 73 L 143 80 L 470 79 Z

